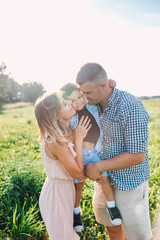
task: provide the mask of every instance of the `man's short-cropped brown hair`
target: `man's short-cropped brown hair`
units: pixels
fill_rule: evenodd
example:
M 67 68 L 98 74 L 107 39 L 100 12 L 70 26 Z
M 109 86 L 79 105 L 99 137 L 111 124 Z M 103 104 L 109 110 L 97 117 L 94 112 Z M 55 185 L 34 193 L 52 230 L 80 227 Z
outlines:
M 85 82 L 99 83 L 102 80 L 107 81 L 106 71 L 98 63 L 84 64 L 77 74 L 76 83 L 82 85 Z

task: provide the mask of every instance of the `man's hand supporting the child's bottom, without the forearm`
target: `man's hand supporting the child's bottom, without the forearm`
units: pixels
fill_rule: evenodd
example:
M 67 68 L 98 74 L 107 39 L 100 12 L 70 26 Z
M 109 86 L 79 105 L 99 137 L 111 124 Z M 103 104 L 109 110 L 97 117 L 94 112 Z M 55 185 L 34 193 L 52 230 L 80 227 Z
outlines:
M 96 163 L 88 163 L 85 166 L 84 169 L 85 175 L 87 175 L 88 178 L 90 178 L 91 180 L 95 181 L 96 179 L 101 177 L 101 173 L 98 171 L 97 167 L 96 167 Z

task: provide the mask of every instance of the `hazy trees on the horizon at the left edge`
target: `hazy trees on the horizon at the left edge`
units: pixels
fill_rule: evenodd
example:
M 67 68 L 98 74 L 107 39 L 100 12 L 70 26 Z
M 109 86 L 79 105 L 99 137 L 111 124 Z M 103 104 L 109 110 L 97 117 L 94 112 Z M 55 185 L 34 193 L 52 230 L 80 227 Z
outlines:
M 6 64 L 0 65 L 0 107 L 6 103 L 32 102 L 42 96 L 46 91 L 41 83 L 25 82 L 19 84 L 11 74 L 7 74 Z

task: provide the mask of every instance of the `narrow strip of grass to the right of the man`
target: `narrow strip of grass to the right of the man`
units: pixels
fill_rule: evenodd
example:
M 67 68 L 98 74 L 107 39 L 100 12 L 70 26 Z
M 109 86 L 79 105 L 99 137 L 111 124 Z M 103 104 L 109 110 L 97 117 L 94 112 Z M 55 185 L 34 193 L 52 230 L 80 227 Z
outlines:
M 152 225 L 154 225 L 160 210 L 160 99 L 143 100 L 143 103 L 150 114 L 148 150 L 151 170 L 149 204 Z

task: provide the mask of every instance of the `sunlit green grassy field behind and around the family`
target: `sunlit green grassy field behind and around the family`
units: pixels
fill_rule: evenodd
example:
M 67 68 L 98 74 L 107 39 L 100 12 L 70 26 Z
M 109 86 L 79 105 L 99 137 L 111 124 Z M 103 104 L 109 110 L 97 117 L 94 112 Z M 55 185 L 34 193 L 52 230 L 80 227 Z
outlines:
M 153 232 L 160 196 L 160 100 L 143 100 L 150 114 L 149 180 Z M 0 110 L 0 239 L 48 239 L 38 199 L 45 175 L 34 107 Z M 82 211 L 85 228 L 81 239 L 107 239 L 96 223 L 92 208 L 93 183 L 86 181 Z

